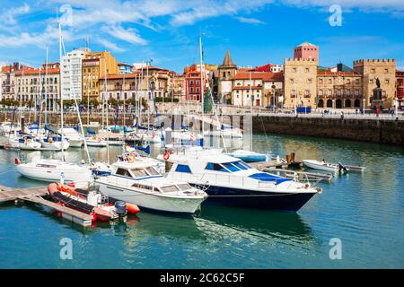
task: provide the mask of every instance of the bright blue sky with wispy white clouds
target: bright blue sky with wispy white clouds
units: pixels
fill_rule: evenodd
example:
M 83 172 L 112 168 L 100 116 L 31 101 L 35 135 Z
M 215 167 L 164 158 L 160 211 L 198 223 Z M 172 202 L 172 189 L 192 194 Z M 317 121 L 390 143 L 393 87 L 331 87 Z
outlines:
M 303 41 L 320 46 L 320 65 L 395 58 L 404 69 L 403 0 L 2 0 L 0 65 L 58 61 L 57 10 L 66 50 L 111 50 L 120 62 L 153 59 L 181 72 L 199 61 L 220 64 L 226 49 L 237 65 L 282 64 Z M 342 25 L 329 25 L 329 6 Z M 71 8 L 71 10 L 70 10 Z M 71 12 L 71 13 L 70 13 Z

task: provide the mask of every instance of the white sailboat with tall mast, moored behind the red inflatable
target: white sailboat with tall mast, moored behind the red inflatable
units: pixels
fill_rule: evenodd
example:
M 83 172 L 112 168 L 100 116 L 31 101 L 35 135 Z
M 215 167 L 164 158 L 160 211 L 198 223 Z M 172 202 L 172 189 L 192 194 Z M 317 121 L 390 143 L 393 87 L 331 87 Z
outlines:
M 60 63 L 62 62 L 62 27 L 61 22 L 58 22 L 58 33 L 59 33 L 59 58 Z M 72 73 L 70 73 L 71 76 Z M 72 80 L 70 78 L 70 80 Z M 60 82 L 59 82 L 60 83 Z M 17 165 L 17 171 L 22 174 L 22 176 L 27 178 L 33 178 L 41 181 L 63 181 L 63 182 L 75 182 L 84 187 L 90 181 L 92 181 L 92 170 L 86 165 L 78 165 L 75 163 L 69 163 L 65 161 L 65 133 L 64 133 L 64 115 L 63 115 L 63 96 L 60 91 L 60 124 L 61 124 L 61 153 L 62 159 L 33 159 L 28 163 L 21 163 L 19 159 L 15 159 L 15 164 Z

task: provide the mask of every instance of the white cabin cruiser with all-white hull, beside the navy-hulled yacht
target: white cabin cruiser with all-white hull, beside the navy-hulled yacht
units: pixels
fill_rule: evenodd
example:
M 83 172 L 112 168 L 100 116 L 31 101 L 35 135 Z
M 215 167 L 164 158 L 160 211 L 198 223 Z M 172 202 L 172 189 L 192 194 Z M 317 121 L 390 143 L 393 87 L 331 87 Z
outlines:
M 110 176 L 95 180 L 100 191 L 141 208 L 168 213 L 195 213 L 206 193 L 187 182 L 164 178 L 153 162 L 134 156 L 112 164 Z

